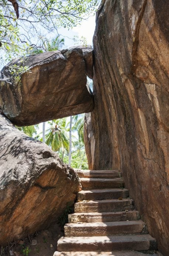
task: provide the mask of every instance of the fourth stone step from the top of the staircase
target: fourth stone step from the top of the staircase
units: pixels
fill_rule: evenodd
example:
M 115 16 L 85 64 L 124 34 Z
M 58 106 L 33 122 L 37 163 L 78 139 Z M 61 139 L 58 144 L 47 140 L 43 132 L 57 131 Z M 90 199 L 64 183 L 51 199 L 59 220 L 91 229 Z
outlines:
M 95 200 L 75 203 L 75 213 L 93 213 L 93 212 L 110 212 L 134 210 L 134 200 L 126 199 L 118 200 Z

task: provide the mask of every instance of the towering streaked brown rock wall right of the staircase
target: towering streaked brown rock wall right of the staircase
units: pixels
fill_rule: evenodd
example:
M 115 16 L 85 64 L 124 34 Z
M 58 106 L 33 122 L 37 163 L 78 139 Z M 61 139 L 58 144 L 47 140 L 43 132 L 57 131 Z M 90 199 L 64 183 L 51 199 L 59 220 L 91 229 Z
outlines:
M 167 0 L 101 2 L 93 39 L 95 107 L 85 131 L 87 155 L 93 152 L 89 169 L 123 172 L 149 233 L 166 256 L 168 8 Z

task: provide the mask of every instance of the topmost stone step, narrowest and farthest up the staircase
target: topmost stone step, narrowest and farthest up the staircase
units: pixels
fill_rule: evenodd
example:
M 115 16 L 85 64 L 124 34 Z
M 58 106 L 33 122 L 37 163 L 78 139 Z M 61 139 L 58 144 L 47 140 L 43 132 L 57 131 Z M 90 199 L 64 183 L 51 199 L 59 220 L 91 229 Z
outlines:
M 121 173 L 120 171 L 111 171 L 111 170 L 76 170 L 79 178 L 119 178 Z

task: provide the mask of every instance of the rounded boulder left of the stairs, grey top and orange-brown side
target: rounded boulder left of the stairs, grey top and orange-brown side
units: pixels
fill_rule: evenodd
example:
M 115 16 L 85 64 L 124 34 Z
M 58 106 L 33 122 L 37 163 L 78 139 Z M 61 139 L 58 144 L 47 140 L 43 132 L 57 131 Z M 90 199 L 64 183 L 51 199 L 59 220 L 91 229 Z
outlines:
M 0 244 L 47 228 L 80 191 L 77 173 L 0 115 Z

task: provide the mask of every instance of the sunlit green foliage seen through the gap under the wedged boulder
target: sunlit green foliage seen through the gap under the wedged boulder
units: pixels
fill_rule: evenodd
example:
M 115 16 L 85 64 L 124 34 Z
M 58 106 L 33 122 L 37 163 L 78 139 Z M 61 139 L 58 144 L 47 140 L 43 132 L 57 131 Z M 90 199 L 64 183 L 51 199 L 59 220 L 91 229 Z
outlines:
M 48 121 L 48 129 L 46 129 L 45 143 L 59 154 L 59 157 L 65 164 L 69 163 L 69 118 L 62 118 Z M 73 116 L 72 130 L 72 161 L 73 168 L 88 169 L 86 152 L 84 149 L 83 138 L 84 114 Z M 38 125 L 25 127 L 17 127 L 30 137 L 42 141 L 37 135 Z

